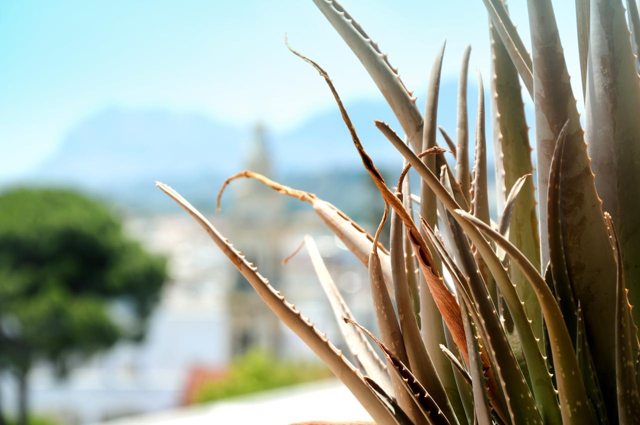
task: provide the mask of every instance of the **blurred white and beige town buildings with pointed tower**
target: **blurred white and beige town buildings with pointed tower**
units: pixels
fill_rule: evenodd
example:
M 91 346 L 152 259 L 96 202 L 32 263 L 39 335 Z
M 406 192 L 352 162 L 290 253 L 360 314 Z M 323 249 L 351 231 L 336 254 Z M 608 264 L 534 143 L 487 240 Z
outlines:
M 270 151 L 266 129 L 256 125 L 246 143 L 243 167 L 268 176 L 277 174 Z M 351 205 L 349 213 L 374 229 L 381 206 L 375 212 L 359 207 L 367 199 L 376 199 L 374 186 L 357 171 L 339 178 L 340 182 L 325 178 L 311 189 L 335 183 L 358 192 L 358 205 Z M 324 228 L 309 205 L 259 182 L 241 180 L 232 183 L 223 196 L 222 213 L 214 215 L 212 201 L 221 180 L 210 183 L 209 202 L 201 204 L 214 226 L 338 346 L 342 346 L 341 336 L 306 252 L 281 265 L 306 233 L 316 236 L 355 316 L 375 327 L 365 268 Z M 29 376 L 33 412 L 80 424 L 189 404 L 197 385 L 224 376 L 230 361 L 250 348 L 285 359 L 314 360 L 313 353 L 277 320 L 193 219 L 169 198 L 163 199 L 151 182 L 147 190 L 161 197 L 158 204 L 166 205 L 159 211 L 141 208 L 129 203 L 127 194 L 124 201 L 117 197 L 114 201 L 126 232 L 148 251 L 168 258 L 169 281 L 152 313 L 147 336 L 141 343 L 118 343 L 95 355 L 63 380 L 45 364 L 34 367 Z M 4 406 L 11 412 L 17 390 L 8 376 L 2 390 Z

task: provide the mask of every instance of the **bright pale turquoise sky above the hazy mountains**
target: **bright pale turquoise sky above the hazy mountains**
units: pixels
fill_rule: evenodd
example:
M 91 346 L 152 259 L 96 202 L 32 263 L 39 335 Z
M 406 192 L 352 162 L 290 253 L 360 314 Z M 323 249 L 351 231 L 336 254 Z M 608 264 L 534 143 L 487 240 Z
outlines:
M 472 70 L 479 67 L 488 86 L 481 0 L 341 4 L 418 90 L 419 104 L 445 39 L 443 78 L 457 79 L 471 43 Z M 579 84 L 573 4 L 554 1 Z M 509 7 L 528 45 L 526 1 Z M 333 100 L 317 73 L 285 48 L 285 32 L 324 66 L 345 100 L 380 98 L 311 0 L 1 1 L 0 179 L 28 172 L 74 125 L 107 107 L 198 112 L 240 126 L 262 120 L 275 131 L 296 126 Z

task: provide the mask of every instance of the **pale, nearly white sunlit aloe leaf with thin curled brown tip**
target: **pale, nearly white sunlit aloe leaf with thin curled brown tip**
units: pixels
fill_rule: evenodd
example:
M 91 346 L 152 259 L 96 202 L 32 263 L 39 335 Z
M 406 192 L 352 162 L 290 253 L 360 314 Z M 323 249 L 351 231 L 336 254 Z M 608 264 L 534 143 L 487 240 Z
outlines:
M 357 328 L 347 325 L 342 320 L 343 316 L 353 319 L 353 314 L 344 301 L 344 298 L 342 298 L 342 295 L 340 295 L 337 286 L 335 286 L 329 270 L 327 270 L 326 265 L 324 265 L 316 242 L 314 242 L 311 236 L 307 235 L 305 236 L 304 243 L 324 294 L 328 298 L 333 314 L 338 322 L 338 327 L 344 337 L 344 342 L 349 348 L 349 352 L 351 352 L 357 363 L 362 366 L 367 375 L 371 376 L 386 393 L 393 395 L 393 387 L 387 367 L 380 360 L 376 352 L 374 352 L 369 340 L 362 332 L 358 332 Z

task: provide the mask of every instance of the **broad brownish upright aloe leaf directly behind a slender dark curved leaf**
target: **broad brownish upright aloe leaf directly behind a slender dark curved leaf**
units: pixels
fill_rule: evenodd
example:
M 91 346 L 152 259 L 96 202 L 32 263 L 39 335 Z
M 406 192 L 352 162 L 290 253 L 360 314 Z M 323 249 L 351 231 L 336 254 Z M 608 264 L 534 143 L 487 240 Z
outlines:
M 547 231 L 548 176 L 557 135 L 568 121 L 562 164 L 563 242 L 573 293 L 582 305 L 588 340 L 609 417 L 616 419 L 615 397 L 615 259 L 607 246 L 602 204 L 595 188 L 584 134 L 566 70 L 550 0 L 527 0 L 534 58 L 536 155 L 540 229 Z M 591 22 L 594 10 L 591 8 Z M 593 26 L 591 33 L 593 34 Z M 593 38 L 593 37 L 591 37 Z M 591 40 L 593 42 L 593 40 Z M 589 97 L 589 92 L 587 93 Z M 624 108 L 623 108 L 624 109 Z M 637 187 L 637 186 L 636 186 Z M 632 219 L 632 222 L 637 220 Z M 548 263 L 548 240 L 541 239 L 542 264 Z M 593 294 L 597 293 L 595 297 Z M 547 323 L 548 325 L 548 323 Z

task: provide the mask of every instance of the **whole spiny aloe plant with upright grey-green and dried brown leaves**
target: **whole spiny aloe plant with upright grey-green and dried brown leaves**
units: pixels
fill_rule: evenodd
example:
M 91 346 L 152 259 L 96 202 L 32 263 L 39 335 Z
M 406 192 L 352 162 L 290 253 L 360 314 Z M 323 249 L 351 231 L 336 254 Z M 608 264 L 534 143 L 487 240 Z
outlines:
M 640 301 L 640 17 L 634 0 L 627 0 L 626 11 L 621 0 L 575 2 L 584 130 L 550 0 L 527 0 L 531 54 L 506 4 L 483 0 L 492 41 L 496 222 L 489 214 L 481 75 L 474 166 L 468 164 L 470 49 L 462 59 L 457 140 L 440 128 L 445 150 L 436 143 L 444 45 L 422 114 L 387 55 L 353 17 L 336 1 L 313 1 L 380 88 L 406 137 L 374 123 L 404 161 L 399 182 L 390 185 L 367 155 L 328 73 L 290 48 L 328 84 L 355 154 L 380 190 L 385 215 L 378 231 L 371 236 L 316 195 L 251 171 L 232 176 L 223 189 L 237 178 L 253 178 L 310 203 L 368 268 L 379 337 L 358 325 L 313 240 L 305 238 L 357 367 L 188 201 L 163 183 L 158 187 L 209 233 L 376 423 L 640 422 L 634 324 L 640 313 L 629 304 Z M 534 104 L 535 164 L 521 84 Z M 420 177 L 420 196 L 410 193 L 410 168 Z M 388 216 L 386 249 L 378 237 Z

